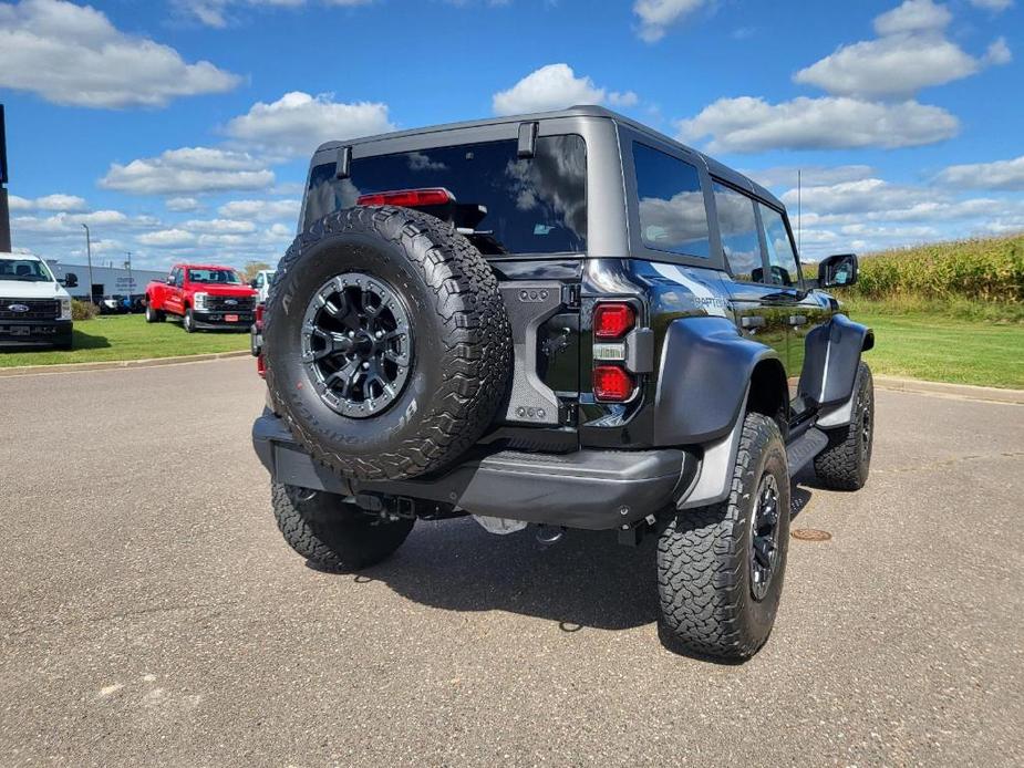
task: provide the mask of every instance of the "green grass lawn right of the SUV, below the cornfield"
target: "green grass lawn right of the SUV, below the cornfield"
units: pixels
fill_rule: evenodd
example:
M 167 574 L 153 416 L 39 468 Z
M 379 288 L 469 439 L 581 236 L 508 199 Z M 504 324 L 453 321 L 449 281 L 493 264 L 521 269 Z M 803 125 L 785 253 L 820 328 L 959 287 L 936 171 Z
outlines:
M 851 311 L 875 329 L 878 374 L 1024 390 L 1024 324 Z

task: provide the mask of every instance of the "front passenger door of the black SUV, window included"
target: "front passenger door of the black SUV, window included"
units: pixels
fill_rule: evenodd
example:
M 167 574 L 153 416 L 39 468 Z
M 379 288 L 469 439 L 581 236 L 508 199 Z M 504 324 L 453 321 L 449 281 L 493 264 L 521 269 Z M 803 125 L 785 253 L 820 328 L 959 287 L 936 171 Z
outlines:
M 761 235 L 767 256 L 768 277 L 775 287 L 769 301 L 785 315 L 788 330 L 786 378 L 793 415 L 799 418 L 807 405 L 799 396 L 798 384 L 806 357 L 807 334 L 831 316 L 830 304 L 804 290 L 793 231 L 784 211 L 757 203 Z

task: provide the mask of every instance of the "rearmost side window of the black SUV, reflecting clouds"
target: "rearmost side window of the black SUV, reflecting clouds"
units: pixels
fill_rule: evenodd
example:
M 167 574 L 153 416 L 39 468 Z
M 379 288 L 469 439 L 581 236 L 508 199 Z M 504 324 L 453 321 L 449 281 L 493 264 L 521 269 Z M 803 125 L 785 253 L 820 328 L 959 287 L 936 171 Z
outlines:
M 633 144 L 640 235 L 648 248 L 706 259 L 707 211 L 697 169 L 658 149 Z

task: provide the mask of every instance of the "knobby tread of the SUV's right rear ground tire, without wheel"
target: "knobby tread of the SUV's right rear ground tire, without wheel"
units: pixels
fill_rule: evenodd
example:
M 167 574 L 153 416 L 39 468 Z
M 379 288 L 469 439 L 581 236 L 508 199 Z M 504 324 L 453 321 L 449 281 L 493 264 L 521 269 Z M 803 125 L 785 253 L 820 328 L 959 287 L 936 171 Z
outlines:
M 773 443 L 785 456 L 778 425 L 767 416 L 747 414 L 728 498 L 681 510 L 659 537 L 662 622 L 670 637 L 687 652 L 743 660 L 753 656 L 768 639 L 770 626 L 768 632 L 759 632 L 744 620 L 744 603 L 753 598 L 744 577 L 749 565 L 741 502 L 744 476 L 754 471 L 758 457 Z M 785 532 L 788 536 L 788 526 Z

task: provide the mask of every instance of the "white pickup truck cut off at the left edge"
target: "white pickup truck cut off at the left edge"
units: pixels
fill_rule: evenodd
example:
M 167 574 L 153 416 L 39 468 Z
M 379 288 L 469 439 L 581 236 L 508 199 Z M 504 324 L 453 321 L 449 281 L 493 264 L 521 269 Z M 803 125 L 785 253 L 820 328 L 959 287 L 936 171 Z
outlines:
M 71 295 L 46 262 L 0 252 L 0 350 L 37 345 L 70 350 L 71 326 Z

